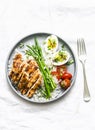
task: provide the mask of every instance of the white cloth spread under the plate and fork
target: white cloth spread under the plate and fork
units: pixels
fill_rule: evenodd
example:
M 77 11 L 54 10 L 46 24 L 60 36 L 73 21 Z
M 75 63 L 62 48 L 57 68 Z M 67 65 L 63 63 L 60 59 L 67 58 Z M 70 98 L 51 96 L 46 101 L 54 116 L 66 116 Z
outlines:
M 0 0 L 0 130 L 95 130 L 95 1 Z M 63 98 L 32 104 L 19 98 L 6 81 L 5 65 L 12 47 L 24 36 L 50 32 L 63 38 L 76 58 L 77 38 L 87 48 L 86 74 L 91 101 L 83 101 L 82 66 Z

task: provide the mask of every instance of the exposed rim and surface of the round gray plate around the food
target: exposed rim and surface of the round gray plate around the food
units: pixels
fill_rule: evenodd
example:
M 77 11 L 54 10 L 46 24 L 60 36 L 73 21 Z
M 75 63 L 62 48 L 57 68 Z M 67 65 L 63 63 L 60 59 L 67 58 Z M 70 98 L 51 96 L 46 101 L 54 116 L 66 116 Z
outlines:
M 75 55 L 72 51 L 72 49 L 70 48 L 70 46 L 61 38 L 59 38 L 58 36 L 58 41 L 59 41 L 59 46 L 63 45 L 65 46 L 65 48 L 69 51 L 69 53 L 71 54 L 71 58 L 74 60 L 74 63 L 70 66 L 68 66 L 68 71 L 72 73 L 73 78 L 71 80 L 71 85 L 67 90 L 63 90 L 61 89 L 61 87 L 59 86 L 53 93 L 52 93 L 52 98 L 50 99 L 45 99 L 43 97 L 39 97 L 37 94 L 35 94 L 31 99 L 27 98 L 26 96 L 21 95 L 21 93 L 19 91 L 17 91 L 16 86 L 14 86 L 9 78 L 9 71 L 10 71 L 10 66 L 12 64 L 12 60 L 13 57 L 16 53 L 16 51 L 19 51 L 21 53 L 24 53 L 24 51 L 26 50 L 26 45 L 27 44 L 34 44 L 34 37 L 36 37 L 38 39 L 38 42 L 40 44 L 40 46 L 43 45 L 44 40 L 51 34 L 49 33 L 35 33 L 32 35 L 29 35 L 25 38 L 23 38 L 22 40 L 20 40 L 11 50 L 9 56 L 8 56 L 8 60 L 7 60 L 7 66 L 6 66 L 6 75 L 7 75 L 7 80 L 9 85 L 11 86 L 11 88 L 14 90 L 14 92 L 19 95 L 21 98 L 30 101 L 30 102 L 34 102 L 34 103 L 48 103 L 48 102 L 52 102 L 55 101 L 59 98 L 61 98 L 62 96 L 64 96 L 73 86 L 75 79 L 76 79 L 76 72 L 77 72 L 77 67 L 76 67 L 76 58 Z M 21 43 L 23 43 L 24 46 L 21 47 Z M 20 48 L 21 47 L 21 48 Z

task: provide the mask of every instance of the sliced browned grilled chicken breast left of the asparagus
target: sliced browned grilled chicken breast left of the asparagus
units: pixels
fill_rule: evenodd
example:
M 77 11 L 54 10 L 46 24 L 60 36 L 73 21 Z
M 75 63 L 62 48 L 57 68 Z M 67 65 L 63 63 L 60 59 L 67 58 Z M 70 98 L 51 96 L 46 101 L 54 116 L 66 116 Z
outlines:
M 31 98 L 41 84 L 42 75 L 35 60 L 23 60 L 21 54 L 13 59 L 9 77 L 22 95 Z

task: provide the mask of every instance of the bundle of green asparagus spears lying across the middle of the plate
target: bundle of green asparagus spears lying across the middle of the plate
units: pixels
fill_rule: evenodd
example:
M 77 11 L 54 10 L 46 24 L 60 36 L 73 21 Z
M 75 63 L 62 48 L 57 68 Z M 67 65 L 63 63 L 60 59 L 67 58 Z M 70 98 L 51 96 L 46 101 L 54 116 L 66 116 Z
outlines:
M 51 92 L 56 88 L 56 84 L 54 83 L 50 71 L 47 65 L 45 64 L 44 57 L 42 54 L 42 49 L 39 46 L 37 39 L 35 38 L 34 40 L 35 40 L 35 45 L 32 46 L 27 45 L 28 50 L 26 50 L 26 54 L 28 56 L 33 56 L 36 62 L 38 63 L 39 69 L 42 73 L 43 80 L 44 80 L 44 86 L 45 86 L 44 93 L 46 95 L 46 98 L 50 98 Z

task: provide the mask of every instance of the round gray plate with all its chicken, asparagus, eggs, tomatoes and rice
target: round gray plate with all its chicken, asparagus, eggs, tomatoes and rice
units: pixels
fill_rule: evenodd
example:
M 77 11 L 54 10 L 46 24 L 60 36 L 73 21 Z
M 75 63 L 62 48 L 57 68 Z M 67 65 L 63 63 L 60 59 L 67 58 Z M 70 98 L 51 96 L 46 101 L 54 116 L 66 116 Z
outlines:
M 11 50 L 8 83 L 25 100 L 48 103 L 61 98 L 76 79 L 76 59 L 70 46 L 56 35 L 36 33 Z

